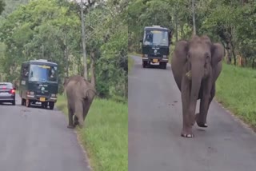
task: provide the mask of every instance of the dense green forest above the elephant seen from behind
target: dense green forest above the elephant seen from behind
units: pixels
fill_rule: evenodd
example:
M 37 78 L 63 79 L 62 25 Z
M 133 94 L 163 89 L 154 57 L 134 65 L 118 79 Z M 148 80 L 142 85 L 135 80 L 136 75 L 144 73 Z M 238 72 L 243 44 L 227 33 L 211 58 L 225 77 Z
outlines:
M 18 82 L 22 62 L 57 62 L 59 79 L 83 75 L 80 1 L 0 0 L 0 80 Z M 127 97 L 127 2 L 83 0 L 90 80 L 95 60 L 101 97 Z M 62 92 L 60 84 L 60 92 Z

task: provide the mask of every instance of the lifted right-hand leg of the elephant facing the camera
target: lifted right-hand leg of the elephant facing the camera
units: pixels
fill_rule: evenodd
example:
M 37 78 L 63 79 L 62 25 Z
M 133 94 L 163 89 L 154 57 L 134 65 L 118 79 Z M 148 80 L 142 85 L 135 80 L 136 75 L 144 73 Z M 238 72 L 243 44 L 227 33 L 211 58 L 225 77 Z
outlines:
M 215 85 L 210 89 L 210 92 L 207 87 L 205 87 L 203 91 L 202 99 L 200 101 L 200 110 L 196 115 L 196 120 L 199 127 L 206 128 L 208 127 L 206 117 L 210 107 L 210 102 L 213 100 L 215 95 Z

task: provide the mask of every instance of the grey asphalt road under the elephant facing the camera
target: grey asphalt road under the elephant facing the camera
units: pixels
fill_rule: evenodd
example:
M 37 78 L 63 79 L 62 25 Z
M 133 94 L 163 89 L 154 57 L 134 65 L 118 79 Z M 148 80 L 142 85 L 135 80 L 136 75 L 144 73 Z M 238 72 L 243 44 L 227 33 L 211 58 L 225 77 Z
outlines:
M 170 66 L 129 76 L 129 171 L 254 171 L 256 135 L 213 101 L 208 128 L 181 137 L 182 103 Z M 198 108 L 197 108 L 198 111 Z

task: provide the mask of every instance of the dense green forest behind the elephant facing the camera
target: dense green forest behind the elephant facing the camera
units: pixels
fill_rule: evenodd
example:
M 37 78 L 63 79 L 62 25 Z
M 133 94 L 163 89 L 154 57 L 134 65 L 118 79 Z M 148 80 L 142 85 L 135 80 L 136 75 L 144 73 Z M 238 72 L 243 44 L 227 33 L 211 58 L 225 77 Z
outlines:
M 254 0 L 194 0 L 194 13 L 196 33 L 207 34 L 214 42 L 222 42 L 228 64 L 255 67 Z M 192 1 L 130 0 L 128 22 L 130 52 L 138 52 L 144 26 L 168 27 L 173 30 L 175 44 L 192 35 Z

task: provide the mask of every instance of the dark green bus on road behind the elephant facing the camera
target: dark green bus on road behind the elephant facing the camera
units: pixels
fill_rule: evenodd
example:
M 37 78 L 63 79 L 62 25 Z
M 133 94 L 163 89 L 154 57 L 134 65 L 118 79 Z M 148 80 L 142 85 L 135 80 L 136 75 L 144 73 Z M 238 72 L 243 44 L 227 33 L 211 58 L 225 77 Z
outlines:
M 170 43 L 172 33 L 162 26 L 144 27 L 142 42 L 142 66 L 150 66 L 151 63 L 159 63 L 158 66 L 166 69 L 169 61 Z

